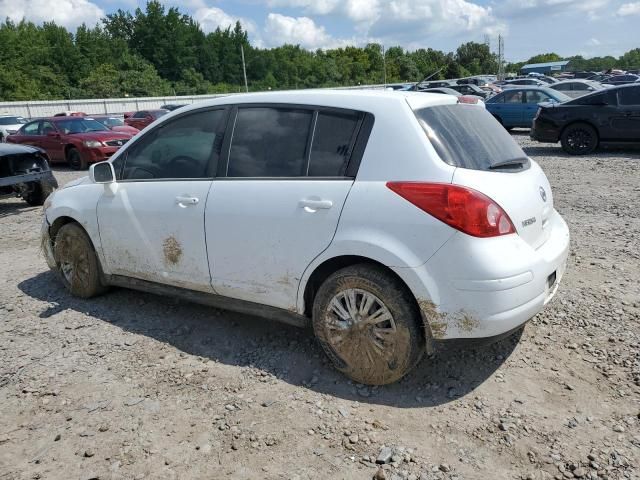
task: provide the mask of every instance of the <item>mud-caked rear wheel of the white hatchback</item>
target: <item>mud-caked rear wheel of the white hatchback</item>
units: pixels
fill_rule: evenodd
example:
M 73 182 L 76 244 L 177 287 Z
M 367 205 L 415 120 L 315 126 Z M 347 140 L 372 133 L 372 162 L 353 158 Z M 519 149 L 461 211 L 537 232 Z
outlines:
M 357 307 L 355 321 L 340 319 L 332 308 L 335 300 L 347 313 L 347 294 L 353 295 L 351 303 Z M 363 310 L 372 297 L 374 303 Z M 366 316 L 379 312 L 380 320 L 367 322 Z M 324 281 L 313 302 L 313 330 L 335 368 L 367 385 L 400 380 L 425 350 L 422 320 L 411 293 L 374 265 L 346 267 Z

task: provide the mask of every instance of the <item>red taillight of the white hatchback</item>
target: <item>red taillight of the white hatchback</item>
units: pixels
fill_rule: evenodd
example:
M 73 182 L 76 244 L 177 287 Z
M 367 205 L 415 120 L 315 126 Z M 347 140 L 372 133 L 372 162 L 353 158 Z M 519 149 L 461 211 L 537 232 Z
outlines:
M 387 182 L 387 187 L 419 209 L 474 237 L 516 233 L 496 202 L 471 188 L 448 183 Z

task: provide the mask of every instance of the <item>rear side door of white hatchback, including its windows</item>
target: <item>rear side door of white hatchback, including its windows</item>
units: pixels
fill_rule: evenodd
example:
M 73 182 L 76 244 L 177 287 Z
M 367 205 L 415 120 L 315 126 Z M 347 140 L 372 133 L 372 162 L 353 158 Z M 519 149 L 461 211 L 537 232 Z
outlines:
M 347 168 L 363 118 L 271 105 L 232 113 L 205 220 L 216 293 L 296 308 L 300 278 L 331 243 L 353 184 Z

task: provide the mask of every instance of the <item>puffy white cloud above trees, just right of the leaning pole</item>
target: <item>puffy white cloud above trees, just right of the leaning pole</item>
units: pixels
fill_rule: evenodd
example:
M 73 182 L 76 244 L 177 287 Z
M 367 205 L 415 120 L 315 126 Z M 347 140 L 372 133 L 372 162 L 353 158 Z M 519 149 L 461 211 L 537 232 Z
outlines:
M 308 49 L 329 48 L 336 43 L 324 27 L 309 17 L 287 17 L 279 13 L 267 15 L 264 36 L 269 45 L 291 43 Z

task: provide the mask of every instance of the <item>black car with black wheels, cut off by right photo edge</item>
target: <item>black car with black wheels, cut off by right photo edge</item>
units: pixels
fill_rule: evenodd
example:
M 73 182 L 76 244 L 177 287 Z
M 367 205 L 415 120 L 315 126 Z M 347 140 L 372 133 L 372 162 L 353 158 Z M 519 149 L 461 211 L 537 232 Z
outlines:
M 539 142 L 560 142 L 565 152 L 586 155 L 609 143 L 640 143 L 640 84 L 593 92 L 560 105 L 540 107 L 531 129 Z

